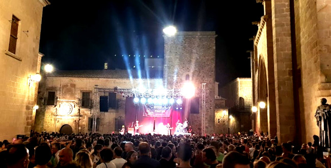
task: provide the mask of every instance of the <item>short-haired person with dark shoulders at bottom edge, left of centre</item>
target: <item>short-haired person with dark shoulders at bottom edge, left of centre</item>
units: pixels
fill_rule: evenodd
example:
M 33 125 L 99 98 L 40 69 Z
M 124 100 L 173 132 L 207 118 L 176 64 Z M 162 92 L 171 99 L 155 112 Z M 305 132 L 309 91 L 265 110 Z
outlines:
M 160 163 L 157 160 L 151 159 L 151 147 L 148 143 L 142 142 L 139 144 L 140 158 L 133 163 L 133 167 L 159 167 Z

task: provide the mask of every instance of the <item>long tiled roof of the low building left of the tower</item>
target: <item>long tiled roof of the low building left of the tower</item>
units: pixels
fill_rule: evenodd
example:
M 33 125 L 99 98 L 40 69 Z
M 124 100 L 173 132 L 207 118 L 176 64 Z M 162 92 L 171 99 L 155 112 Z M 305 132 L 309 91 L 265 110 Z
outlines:
M 161 79 L 162 71 L 140 71 L 138 70 L 58 70 L 47 74 L 47 77 L 76 77 L 76 78 L 130 78 L 133 79 Z M 130 74 L 130 75 L 129 75 Z

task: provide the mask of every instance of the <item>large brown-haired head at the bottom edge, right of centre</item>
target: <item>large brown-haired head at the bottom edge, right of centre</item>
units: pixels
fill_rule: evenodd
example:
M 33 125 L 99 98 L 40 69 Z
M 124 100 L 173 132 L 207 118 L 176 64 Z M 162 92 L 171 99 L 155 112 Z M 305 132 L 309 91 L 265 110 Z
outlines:
M 223 167 L 227 167 L 227 168 L 236 168 L 236 167 L 249 168 L 250 160 L 246 156 L 236 151 L 232 151 L 229 152 L 227 155 L 225 155 L 222 164 Z

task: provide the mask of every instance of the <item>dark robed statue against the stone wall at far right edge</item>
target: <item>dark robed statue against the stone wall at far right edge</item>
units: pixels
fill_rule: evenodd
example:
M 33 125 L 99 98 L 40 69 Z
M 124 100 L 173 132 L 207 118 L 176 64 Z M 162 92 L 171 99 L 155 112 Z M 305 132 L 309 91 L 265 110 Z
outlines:
M 331 145 L 331 109 L 326 102 L 326 98 L 321 98 L 321 105 L 317 107 L 315 118 L 319 127 L 319 145 L 329 148 Z

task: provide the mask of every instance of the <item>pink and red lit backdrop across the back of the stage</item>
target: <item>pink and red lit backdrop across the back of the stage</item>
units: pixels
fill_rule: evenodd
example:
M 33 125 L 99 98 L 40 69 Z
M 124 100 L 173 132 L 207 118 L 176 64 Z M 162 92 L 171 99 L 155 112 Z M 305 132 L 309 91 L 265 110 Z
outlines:
M 189 114 L 189 100 L 183 99 L 182 110 L 176 110 L 176 104 L 171 106 L 168 110 L 156 107 L 154 109 L 148 108 L 144 104 L 134 106 L 133 97 L 127 97 L 125 102 L 125 124 L 126 127 L 133 127 L 134 122 L 139 121 L 140 133 L 163 133 L 164 126 L 167 123 L 173 128 L 171 133 L 175 132 L 176 122 L 180 120 L 181 123 Z M 188 118 L 187 118 L 188 119 Z

